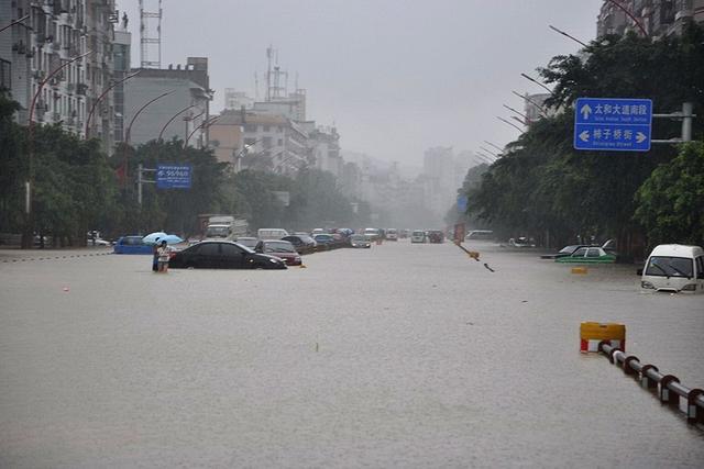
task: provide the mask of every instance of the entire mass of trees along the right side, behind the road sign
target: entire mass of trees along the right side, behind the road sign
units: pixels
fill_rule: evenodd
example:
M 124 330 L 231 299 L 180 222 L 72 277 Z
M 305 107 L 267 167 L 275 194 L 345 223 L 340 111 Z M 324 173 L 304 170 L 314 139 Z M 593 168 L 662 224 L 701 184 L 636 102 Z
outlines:
M 640 257 L 660 243 L 704 241 L 704 29 L 659 40 L 605 36 L 539 74 L 553 83 L 549 116 L 531 123 L 481 179 L 468 175 L 475 225 L 559 246 L 615 238 Z M 578 98 L 648 98 L 657 113 L 694 103 L 694 142 L 652 144 L 647 153 L 573 148 Z M 653 120 L 653 138 L 680 135 L 681 122 Z M 472 180 L 469 180 L 470 176 Z

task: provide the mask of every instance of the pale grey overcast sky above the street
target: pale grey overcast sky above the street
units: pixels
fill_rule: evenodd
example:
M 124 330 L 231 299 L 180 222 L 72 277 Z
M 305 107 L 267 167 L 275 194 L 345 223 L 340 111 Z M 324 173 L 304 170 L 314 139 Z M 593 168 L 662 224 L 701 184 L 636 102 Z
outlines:
M 156 5 L 145 0 L 145 7 Z M 499 146 L 518 131 L 502 104 L 540 92 L 535 76 L 587 42 L 602 0 L 164 0 L 162 66 L 209 57 L 212 111 L 224 88 L 264 96 L 266 47 L 279 51 L 289 86 L 308 92 L 308 119 L 334 123 L 346 150 L 418 165 L 426 148 Z M 132 66 L 140 62 L 139 1 L 130 16 Z

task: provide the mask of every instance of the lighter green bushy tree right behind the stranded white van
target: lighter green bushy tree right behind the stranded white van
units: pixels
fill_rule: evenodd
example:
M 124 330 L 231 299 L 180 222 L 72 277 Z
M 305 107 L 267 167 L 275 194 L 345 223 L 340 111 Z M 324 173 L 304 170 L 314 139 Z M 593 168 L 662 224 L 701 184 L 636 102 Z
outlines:
M 636 194 L 636 220 L 652 245 L 704 243 L 704 143 L 682 146 L 671 163 L 659 166 Z

